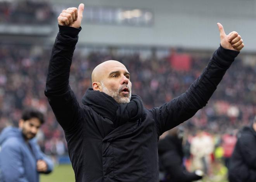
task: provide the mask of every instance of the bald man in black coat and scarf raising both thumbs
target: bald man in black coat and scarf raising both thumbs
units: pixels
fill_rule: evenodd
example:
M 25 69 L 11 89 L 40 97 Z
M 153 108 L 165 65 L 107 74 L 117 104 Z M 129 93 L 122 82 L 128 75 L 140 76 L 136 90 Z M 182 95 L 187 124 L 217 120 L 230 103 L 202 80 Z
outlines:
M 130 73 L 118 61 L 106 61 L 92 72 L 92 88 L 80 106 L 69 87 L 69 71 L 84 5 L 63 10 L 50 58 L 45 95 L 64 129 L 77 182 L 157 182 L 159 136 L 204 107 L 225 71 L 243 48 L 237 32 L 220 48 L 187 92 L 161 107 L 146 109 L 131 94 Z M 170 83 L 171 84 L 171 83 Z

